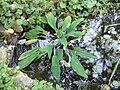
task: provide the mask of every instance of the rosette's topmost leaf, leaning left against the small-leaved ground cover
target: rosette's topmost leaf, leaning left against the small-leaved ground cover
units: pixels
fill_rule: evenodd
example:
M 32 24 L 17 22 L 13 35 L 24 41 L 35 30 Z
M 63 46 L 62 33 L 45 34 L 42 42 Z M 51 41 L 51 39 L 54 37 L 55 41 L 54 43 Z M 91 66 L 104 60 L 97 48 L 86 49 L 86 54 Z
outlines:
M 56 28 L 56 17 L 54 17 L 54 15 L 52 13 L 48 13 L 46 15 L 47 17 L 47 21 L 48 21 L 48 24 L 54 29 L 54 30 L 57 30 Z

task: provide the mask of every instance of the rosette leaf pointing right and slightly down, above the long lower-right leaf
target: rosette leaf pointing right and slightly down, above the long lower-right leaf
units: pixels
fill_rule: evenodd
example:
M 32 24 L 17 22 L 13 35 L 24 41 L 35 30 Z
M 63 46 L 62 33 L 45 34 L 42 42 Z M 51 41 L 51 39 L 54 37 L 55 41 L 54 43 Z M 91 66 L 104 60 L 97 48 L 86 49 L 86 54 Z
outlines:
M 94 55 L 92 55 L 91 53 L 85 51 L 84 49 L 82 49 L 80 47 L 75 47 L 74 49 L 75 49 L 76 54 L 83 57 L 83 58 L 88 58 L 88 59 L 95 58 Z

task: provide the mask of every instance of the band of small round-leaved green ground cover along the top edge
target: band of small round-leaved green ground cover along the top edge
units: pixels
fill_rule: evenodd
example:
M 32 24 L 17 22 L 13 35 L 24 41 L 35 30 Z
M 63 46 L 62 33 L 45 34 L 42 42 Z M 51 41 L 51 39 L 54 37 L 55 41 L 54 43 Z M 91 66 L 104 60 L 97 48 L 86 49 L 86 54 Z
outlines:
M 112 6 L 108 0 L 0 0 L 0 22 L 6 28 L 25 26 L 31 30 L 44 27 L 49 11 L 62 18 L 84 18 L 92 13 L 106 13 Z

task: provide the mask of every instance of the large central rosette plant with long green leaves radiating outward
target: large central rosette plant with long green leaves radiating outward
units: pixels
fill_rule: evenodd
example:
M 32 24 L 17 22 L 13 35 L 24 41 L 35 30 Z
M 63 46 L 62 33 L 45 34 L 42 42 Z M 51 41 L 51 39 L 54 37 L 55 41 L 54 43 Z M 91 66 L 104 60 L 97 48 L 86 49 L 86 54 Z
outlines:
M 57 19 L 54 17 L 52 13 L 48 13 L 46 15 L 48 24 L 54 29 L 54 39 L 51 45 L 46 45 L 41 48 L 36 47 L 32 50 L 29 50 L 23 53 L 19 60 L 18 65 L 20 68 L 25 68 L 28 66 L 33 60 L 40 58 L 44 54 L 48 54 L 49 59 L 52 59 L 51 71 L 56 78 L 57 81 L 60 80 L 60 61 L 66 60 L 65 55 L 68 56 L 68 64 L 73 68 L 73 70 L 80 76 L 87 78 L 86 72 L 78 60 L 78 56 L 83 58 L 94 58 L 92 54 L 85 51 L 80 47 L 75 47 L 70 45 L 71 39 L 76 40 L 80 39 L 85 31 L 78 31 L 76 26 L 80 24 L 84 19 L 80 18 L 72 22 L 70 16 L 67 16 L 62 24 L 57 28 Z M 71 48 L 69 48 L 71 47 Z

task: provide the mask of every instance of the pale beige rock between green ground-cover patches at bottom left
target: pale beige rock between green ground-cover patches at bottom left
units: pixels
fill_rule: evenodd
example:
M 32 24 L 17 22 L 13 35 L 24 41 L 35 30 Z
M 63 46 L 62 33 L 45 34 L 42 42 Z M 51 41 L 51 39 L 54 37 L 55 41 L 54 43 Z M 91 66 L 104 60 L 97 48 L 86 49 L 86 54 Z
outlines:
M 33 80 L 23 72 L 20 72 L 17 76 L 13 77 L 13 80 L 15 84 L 20 85 L 23 90 L 31 90 L 33 86 Z

